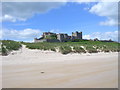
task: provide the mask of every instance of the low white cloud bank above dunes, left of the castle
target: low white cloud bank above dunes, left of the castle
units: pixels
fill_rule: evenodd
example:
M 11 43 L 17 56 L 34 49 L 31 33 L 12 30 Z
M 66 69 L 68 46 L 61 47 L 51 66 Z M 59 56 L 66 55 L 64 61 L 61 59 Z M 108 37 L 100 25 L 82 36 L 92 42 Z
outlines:
M 33 40 L 35 37 L 39 37 L 41 31 L 39 29 L 24 29 L 24 30 L 2 30 L 2 39 L 8 40 Z

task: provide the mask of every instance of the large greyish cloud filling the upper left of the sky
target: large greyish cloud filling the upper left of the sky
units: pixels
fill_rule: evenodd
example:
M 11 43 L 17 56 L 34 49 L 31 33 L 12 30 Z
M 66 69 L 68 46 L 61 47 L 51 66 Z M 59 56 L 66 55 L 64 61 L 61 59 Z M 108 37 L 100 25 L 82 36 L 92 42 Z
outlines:
M 63 2 L 3 2 L 2 20 L 11 22 L 25 21 L 35 14 L 48 12 L 64 4 Z

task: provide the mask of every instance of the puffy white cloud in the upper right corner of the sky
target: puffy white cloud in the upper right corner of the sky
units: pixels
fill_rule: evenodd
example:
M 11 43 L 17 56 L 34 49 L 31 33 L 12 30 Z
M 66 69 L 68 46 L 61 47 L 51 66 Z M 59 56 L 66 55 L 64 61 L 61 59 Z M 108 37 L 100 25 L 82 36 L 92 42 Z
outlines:
M 107 18 L 101 21 L 100 25 L 118 25 L 118 2 L 99 2 L 93 5 L 89 12 Z

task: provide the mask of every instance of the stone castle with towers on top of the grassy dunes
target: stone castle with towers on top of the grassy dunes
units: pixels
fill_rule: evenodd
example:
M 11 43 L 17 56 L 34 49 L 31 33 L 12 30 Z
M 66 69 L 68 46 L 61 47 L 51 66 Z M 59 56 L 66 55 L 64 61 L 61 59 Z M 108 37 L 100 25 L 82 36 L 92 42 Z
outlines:
M 44 32 L 41 38 L 34 38 L 34 42 L 67 42 L 70 40 L 82 39 L 82 32 L 72 32 L 72 36 L 65 33 Z

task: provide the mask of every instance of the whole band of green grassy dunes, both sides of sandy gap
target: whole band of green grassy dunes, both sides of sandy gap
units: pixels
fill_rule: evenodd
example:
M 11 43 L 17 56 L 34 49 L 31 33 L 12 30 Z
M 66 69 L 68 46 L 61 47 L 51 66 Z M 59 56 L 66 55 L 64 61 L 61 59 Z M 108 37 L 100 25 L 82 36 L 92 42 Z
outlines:
M 29 49 L 52 50 L 58 49 L 62 54 L 74 53 L 97 53 L 97 52 L 118 52 L 120 43 L 100 42 L 100 41 L 80 41 L 80 42 L 61 42 L 61 43 L 25 43 Z M 18 50 L 21 43 L 11 40 L 2 40 L 0 52 L 2 55 L 8 55 L 12 50 Z

